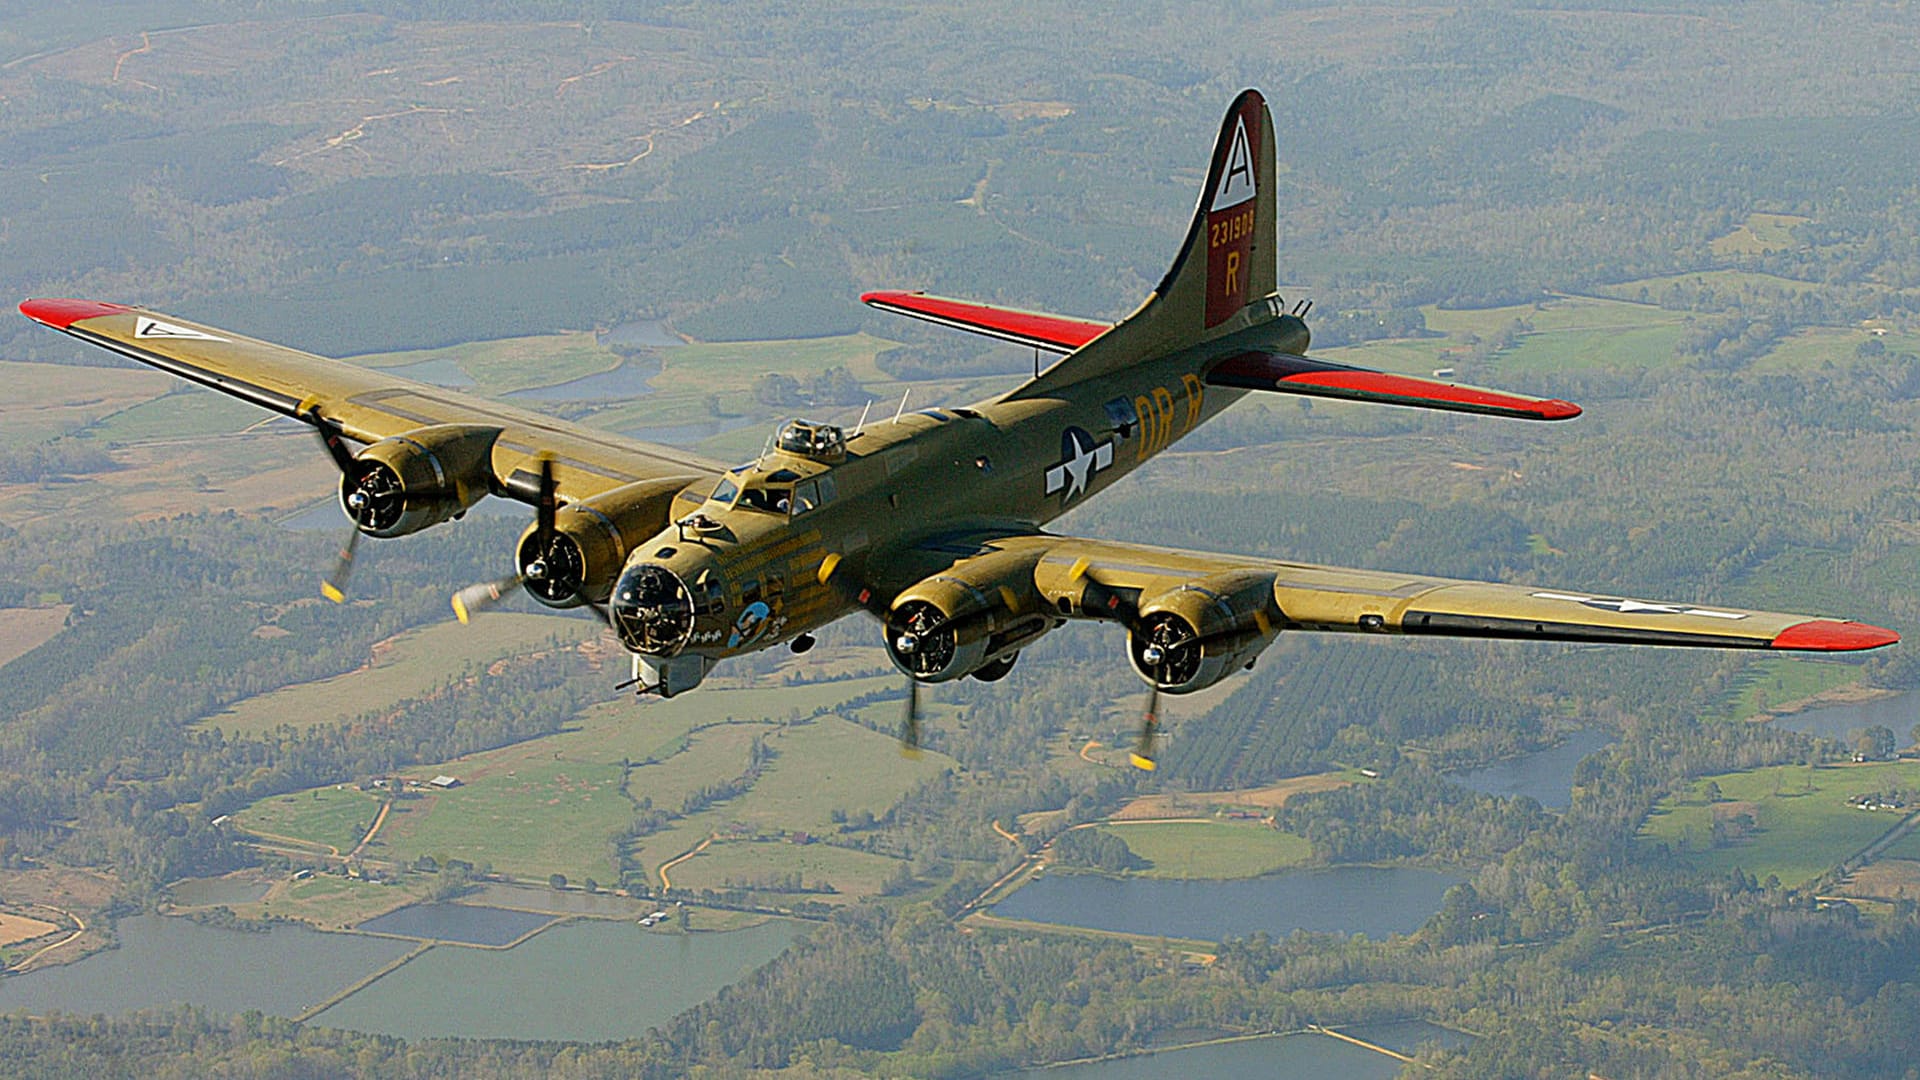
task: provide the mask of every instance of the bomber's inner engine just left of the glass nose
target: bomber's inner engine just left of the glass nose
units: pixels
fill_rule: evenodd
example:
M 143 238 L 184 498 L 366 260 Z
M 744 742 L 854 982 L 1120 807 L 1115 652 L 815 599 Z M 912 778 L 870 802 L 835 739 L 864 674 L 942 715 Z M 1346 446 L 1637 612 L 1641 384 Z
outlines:
M 515 548 L 526 592 L 547 607 L 605 601 L 628 555 L 666 530 L 674 498 L 693 480 L 637 480 L 566 503 L 553 517 L 553 538 L 543 548 L 540 525 L 530 525 Z

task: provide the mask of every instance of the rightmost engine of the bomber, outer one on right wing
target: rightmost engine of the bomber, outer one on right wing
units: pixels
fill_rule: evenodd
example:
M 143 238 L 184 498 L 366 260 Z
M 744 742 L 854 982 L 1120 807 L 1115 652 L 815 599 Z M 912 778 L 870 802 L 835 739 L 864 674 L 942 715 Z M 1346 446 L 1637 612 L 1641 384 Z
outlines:
M 1279 632 L 1271 573 L 1212 575 L 1142 603 L 1127 659 L 1164 692 L 1192 694 L 1252 663 Z

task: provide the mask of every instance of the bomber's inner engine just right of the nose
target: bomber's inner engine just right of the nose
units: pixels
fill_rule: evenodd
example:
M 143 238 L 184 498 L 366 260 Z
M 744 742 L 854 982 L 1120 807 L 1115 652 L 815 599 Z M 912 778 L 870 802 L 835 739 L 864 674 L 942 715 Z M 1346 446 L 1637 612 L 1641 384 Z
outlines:
M 902 592 L 887 615 L 895 667 L 920 682 L 947 682 L 1010 665 L 1014 653 L 1062 625 L 1033 586 L 1037 561 L 1039 550 L 989 552 Z

